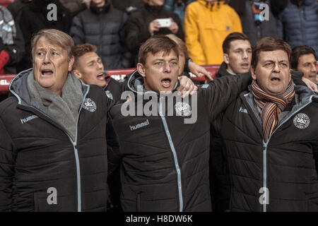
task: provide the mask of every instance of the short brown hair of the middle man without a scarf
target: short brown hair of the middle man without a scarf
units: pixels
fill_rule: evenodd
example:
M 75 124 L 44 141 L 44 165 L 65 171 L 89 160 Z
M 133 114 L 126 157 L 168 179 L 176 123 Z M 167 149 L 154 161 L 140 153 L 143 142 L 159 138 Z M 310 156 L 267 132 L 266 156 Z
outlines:
M 146 64 L 148 53 L 154 55 L 158 52 L 163 52 L 166 55 L 170 54 L 171 51 L 175 52 L 179 58 L 178 45 L 175 41 L 165 35 L 155 35 L 146 40 L 139 48 L 138 62 L 143 65 Z

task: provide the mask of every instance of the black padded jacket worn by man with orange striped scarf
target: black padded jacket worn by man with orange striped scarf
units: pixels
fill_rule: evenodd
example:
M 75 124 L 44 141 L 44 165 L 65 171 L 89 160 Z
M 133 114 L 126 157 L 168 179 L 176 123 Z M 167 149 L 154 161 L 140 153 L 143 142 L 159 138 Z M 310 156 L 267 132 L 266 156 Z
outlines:
M 231 211 L 318 211 L 318 95 L 295 91 L 267 142 L 251 90 L 214 122 L 225 143 Z

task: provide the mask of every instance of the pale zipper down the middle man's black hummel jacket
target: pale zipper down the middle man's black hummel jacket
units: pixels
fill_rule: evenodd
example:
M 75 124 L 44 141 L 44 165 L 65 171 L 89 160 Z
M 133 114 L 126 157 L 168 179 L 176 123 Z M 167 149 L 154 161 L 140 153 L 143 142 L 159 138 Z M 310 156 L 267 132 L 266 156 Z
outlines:
M 159 99 L 159 115 L 161 117 L 161 120 L 163 121 L 163 126 L 165 127 L 165 133 L 167 135 L 170 149 L 172 151 L 173 158 L 175 160 L 175 169 L 177 171 L 177 184 L 178 184 L 178 193 L 179 193 L 179 212 L 182 212 L 183 211 L 183 196 L 182 196 L 181 172 L 180 172 L 180 167 L 179 167 L 179 163 L 178 163 L 177 153 L 175 151 L 175 145 L 173 145 L 172 137 L 170 135 L 170 131 L 169 131 L 168 126 L 167 126 L 167 121 L 165 119 L 165 115 L 162 112 L 162 109 L 163 109 L 162 105 L 163 105 L 163 97 L 160 97 L 160 99 Z

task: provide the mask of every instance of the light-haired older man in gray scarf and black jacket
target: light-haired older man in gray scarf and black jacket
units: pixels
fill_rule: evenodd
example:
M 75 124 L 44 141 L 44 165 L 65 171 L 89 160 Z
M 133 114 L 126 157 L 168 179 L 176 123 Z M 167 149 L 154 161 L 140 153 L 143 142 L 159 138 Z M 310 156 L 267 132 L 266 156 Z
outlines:
M 40 30 L 33 69 L 0 104 L 0 210 L 105 211 L 105 128 L 112 101 L 70 73 L 73 40 Z

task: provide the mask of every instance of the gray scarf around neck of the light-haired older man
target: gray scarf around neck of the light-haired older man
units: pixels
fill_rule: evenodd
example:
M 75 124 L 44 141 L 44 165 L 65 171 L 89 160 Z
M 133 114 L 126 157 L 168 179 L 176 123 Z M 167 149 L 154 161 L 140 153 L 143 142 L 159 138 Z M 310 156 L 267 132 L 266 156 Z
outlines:
M 34 79 L 33 71 L 28 75 L 28 90 L 31 97 L 47 107 L 50 115 L 64 127 L 69 136 L 75 141 L 78 109 L 83 102 L 81 81 L 69 73 L 62 88 L 61 97 L 57 93 L 43 88 Z

